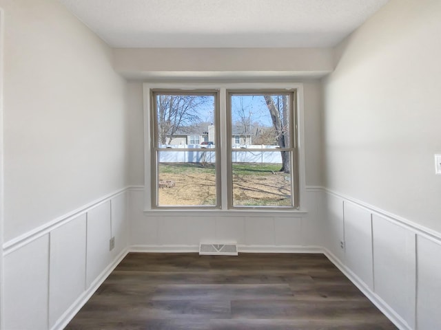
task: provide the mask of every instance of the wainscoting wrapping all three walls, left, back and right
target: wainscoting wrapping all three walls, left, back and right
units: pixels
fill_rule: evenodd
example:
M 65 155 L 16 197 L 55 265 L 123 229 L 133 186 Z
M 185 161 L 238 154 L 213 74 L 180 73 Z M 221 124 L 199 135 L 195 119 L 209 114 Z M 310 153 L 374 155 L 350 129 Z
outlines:
M 144 212 L 125 188 L 3 244 L 4 329 L 63 329 L 128 251 L 320 252 L 400 329 L 441 329 L 441 236 L 320 187 L 305 212 Z M 110 251 L 110 238 L 115 247 Z

